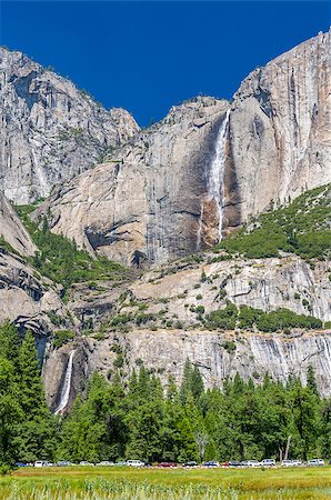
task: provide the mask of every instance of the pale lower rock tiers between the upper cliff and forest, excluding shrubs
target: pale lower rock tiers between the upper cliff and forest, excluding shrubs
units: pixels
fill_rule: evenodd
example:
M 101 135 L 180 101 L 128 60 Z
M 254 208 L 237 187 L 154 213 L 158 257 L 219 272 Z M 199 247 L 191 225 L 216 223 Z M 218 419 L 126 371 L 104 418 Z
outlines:
M 220 387 L 225 377 L 237 372 L 257 381 L 267 372 L 281 381 L 295 374 L 304 382 L 308 366 L 312 364 L 319 388 L 328 396 L 331 387 L 329 330 L 297 329 L 290 334 L 260 333 L 253 329 L 209 331 L 203 329 L 195 309 L 203 308 L 203 314 L 208 314 L 230 300 L 238 307 L 247 304 L 267 312 L 287 308 L 330 321 L 328 267 L 328 262 L 320 262 L 311 269 L 298 257 L 211 263 L 183 261 L 149 271 L 126 289 L 106 293 L 101 287 L 99 300 L 97 291 L 83 293 L 78 289 L 76 300 L 71 298 L 68 307 L 81 322 L 80 328 L 89 322 L 94 331 L 102 327 L 103 333 L 97 338 L 78 337 L 59 350 L 50 349 L 43 367 L 49 404 L 53 409 L 59 404 L 72 350 L 76 352 L 71 402 L 93 371 L 109 376 L 119 352 L 124 371 L 130 372 L 143 362 L 164 383 L 169 374 L 180 382 L 189 358 L 199 367 L 207 387 Z M 127 322 L 126 328 L 119 326 L 117 331 L 111 330 L 109 320 L 129 316 L 132 322 Z

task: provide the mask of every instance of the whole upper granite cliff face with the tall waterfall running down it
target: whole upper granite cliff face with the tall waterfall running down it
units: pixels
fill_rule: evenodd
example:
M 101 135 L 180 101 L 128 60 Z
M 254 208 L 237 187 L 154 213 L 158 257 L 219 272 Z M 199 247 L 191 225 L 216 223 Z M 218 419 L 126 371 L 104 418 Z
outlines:
M 331 181 L 330 32 L 253 71 L 230 107 L 197 98 L 61 186 L 36 217 L 130 263 L 214 244 L 270 203 Z M 221 231 L 220 231 L 221 229 Z

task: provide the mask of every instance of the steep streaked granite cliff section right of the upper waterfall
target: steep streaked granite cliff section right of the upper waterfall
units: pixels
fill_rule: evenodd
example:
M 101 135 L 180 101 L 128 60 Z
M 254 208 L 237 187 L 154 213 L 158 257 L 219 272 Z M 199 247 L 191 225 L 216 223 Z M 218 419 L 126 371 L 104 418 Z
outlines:
M 330 182 L 330 41 L 331 30 L 319 33 L 255 69 L 234 94 L 225 227 Z

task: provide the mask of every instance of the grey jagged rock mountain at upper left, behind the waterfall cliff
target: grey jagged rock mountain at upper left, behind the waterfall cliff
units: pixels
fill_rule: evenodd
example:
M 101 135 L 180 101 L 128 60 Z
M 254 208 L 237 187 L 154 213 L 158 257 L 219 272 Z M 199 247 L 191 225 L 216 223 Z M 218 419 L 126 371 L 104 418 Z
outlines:
M 107 111 L 69 80 L 0 48 L 0 190 L 17 203 L 100 161 L 138 131 L 123 109 Z

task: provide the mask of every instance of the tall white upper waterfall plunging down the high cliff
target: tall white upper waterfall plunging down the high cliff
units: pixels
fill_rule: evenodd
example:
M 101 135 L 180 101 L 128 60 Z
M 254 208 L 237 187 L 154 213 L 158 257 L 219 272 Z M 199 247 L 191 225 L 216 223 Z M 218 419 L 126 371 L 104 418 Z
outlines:
M 208 194 L 210 199 L 213 199 L 217 203 L 219 216 L 219 241 L 222 239 L 222 222 L 223 222 L 223 204 L 224 204 L 224 167 L 225 167 L 225 144 L 228 134 L 228 123 L 230 117 L 230 109 L 228 109 L 224 120 L 220 127 L 214 158 L 211 163 L 209 181 L 208 181 Z

